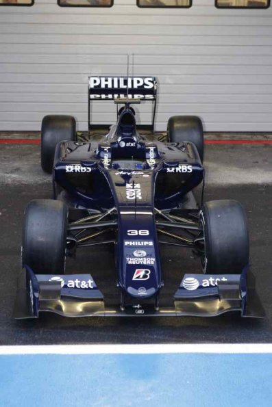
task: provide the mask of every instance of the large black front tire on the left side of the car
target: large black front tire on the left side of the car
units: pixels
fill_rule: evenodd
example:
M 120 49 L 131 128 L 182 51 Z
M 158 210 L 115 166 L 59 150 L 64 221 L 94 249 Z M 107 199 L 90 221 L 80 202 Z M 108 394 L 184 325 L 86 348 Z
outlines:
M 59 200 L 32 200 L 25 209 L 22 265 L 35 274 L 64 274 L 68 208 Z

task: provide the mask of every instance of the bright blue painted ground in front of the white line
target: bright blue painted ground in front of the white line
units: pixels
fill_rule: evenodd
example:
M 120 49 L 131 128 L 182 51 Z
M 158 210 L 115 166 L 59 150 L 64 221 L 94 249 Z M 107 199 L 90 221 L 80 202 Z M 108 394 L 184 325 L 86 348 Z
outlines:
M 0 406 L 272 406 L 272 354 L 0 356 Z

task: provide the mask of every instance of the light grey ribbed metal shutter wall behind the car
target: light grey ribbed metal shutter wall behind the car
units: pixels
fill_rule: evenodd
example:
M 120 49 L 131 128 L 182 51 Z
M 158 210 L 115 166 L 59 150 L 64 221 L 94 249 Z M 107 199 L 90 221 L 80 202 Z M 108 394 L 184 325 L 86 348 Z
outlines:
M 158 77 L 157 130 L 173 114 L 199 115 L 206 131 L 272 130 L 272 7 L 218 10 L 214 0 L 173 10 L 136 0 L 1 7 L 0 130 L 38 130 L 51 113 L 74 114 L 87 129 L 88 75 L 125 75 L 127 53 L 134 75 Z M 95 117 L 112 122 L 113 111 L 100 103 Z

